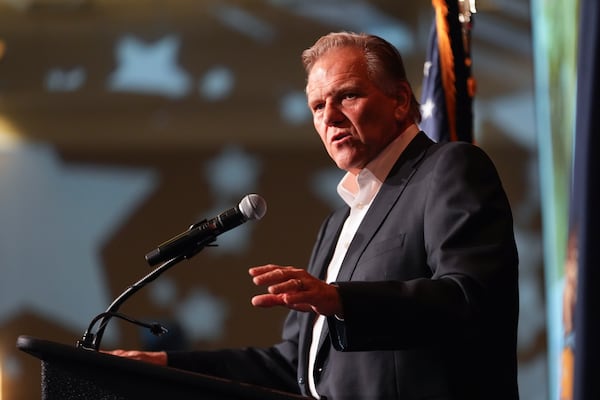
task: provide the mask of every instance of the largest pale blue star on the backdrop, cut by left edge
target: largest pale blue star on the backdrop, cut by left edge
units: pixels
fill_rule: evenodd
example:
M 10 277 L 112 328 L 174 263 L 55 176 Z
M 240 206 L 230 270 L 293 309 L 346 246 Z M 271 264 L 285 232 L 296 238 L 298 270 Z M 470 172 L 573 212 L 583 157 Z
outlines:
M 111 300 L 100 246 L 156 181 L 147 170 L 65 165 L 42 144 L 0 149 L 0 325 L 28 310 L 83 332 Z

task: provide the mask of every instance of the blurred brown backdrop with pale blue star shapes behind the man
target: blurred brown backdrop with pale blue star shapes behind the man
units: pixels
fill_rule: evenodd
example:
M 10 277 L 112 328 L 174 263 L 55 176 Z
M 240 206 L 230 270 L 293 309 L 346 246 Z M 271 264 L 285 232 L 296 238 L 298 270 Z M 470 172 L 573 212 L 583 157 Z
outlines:
M 478 2 L 474 140 L 515 215 L 519 380 L 546 400 L 546 331 L 530 5 Z M 314 133 L 300 53 L 334 30 L 395 44 L 421 92 L 430 2 L 0 0 L 0 395 L 39 399 L 29 334 L 78 340 L 150 271 L 144 254 L 247 193 L 265 217 L 219 237 L 121 311 L 104 347 L 217 348 L 278 340 L 284 310 L 254 309 L 247 268 L 306 265 L 340 171 Z

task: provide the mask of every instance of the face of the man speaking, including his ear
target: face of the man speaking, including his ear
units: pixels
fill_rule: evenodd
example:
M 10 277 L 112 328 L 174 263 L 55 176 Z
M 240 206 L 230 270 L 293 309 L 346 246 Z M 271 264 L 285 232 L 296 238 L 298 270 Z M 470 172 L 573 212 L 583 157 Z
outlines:
M 358 49 L 323 55 L 308 74 L 306 93 L 315 129 L 346 171 L 358 173 L 406 127 L 408 95 L 390 97 L 375 86 Z

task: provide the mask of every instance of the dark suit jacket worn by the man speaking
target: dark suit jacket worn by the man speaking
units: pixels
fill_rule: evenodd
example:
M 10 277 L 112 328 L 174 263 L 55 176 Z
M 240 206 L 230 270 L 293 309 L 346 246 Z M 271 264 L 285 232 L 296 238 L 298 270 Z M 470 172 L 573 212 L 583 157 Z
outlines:
M 324 277 L 349 209 L 321 227 Z M 360 225 L 338 276 L 344 321 L 320 338 L 317 389 L 337 399 L 515 400 L 518 257 L 496 169 L 420 133 Z M 308 394 L 315 316 L 292 311 L 268 349 L 169 353 L 171 365 Z

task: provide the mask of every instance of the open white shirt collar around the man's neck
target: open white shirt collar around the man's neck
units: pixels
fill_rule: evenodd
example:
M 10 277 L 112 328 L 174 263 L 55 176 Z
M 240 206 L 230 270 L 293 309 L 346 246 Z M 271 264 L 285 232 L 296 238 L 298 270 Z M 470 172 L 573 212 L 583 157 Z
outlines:
M 388 144 L 357 175 L 346 172 L 337 186 L 338 195 L 351 208 L 356 204 L 369 204 L 392 170 L 408 144 L 419 133 L 416 125 L 409 126 Z

